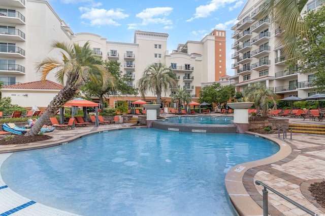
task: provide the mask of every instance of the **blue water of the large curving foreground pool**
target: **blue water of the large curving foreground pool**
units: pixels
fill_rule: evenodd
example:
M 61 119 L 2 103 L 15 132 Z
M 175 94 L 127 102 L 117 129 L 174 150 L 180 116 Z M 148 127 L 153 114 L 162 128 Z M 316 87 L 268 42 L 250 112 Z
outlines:
M 244 134 L 120 129 L 13 153 L 1 174 L 15 192 L 82 215 L 235 215 L 226 172 L 278 150 Z

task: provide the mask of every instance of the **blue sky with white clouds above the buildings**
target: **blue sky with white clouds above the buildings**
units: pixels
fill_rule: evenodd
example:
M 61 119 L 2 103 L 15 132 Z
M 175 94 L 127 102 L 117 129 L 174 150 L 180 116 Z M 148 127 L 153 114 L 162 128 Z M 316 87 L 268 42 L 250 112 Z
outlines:
M 108 41 L 134 42 L 134 31 L 168 33 L 168 50 L 187 40 L 200 41 L 214 28 L 226 30 L 227 74 L 234 40 L 230 28 L 246 4 L 243 0 L 48 0 L 74 33 L 91 32 Z

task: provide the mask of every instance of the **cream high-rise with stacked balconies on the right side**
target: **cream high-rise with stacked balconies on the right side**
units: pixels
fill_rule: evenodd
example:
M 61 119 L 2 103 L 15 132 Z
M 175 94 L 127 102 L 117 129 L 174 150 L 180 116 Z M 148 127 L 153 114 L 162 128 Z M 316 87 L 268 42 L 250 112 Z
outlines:
M 235 41 L 232 45 L 235 75 L 229 79 L 235 80 L 237 92 L 243 92 L 251 83 L 261 82 L 282 98 L 315 94 L 311 88 L 314 74 L 300 74 L 288 67 L 283 55 L 281 28 L 267 17 L 259 19 L 262 3 L 249 0 L 237 18 L 239 22 L 231 28 Z M 318 0 L 311 0 L 305 9 L 318 5 Z

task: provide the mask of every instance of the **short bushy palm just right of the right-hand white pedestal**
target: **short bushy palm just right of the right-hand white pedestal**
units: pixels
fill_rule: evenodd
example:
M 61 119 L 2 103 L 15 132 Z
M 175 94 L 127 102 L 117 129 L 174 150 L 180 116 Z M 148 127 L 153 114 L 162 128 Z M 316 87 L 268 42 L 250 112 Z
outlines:
M 276 109 L 277 94 L 260 82 L 255 82 L 245 88 L 244 96 L 255 103 L 256 110 L 262 108 L 262 116 L 266 116 L 271 107 L 274 106 Z

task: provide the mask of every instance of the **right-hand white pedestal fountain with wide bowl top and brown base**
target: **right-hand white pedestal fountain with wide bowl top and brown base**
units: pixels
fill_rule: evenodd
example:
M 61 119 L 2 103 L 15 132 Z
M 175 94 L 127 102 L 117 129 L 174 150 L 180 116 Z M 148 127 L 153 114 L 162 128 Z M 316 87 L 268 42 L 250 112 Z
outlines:
M 254 102 L 228 103 L 227 105 L 234 109 L 234 123 L 236 124 L 236 133 L 243 134 L 248 131 L 248 109 Z

